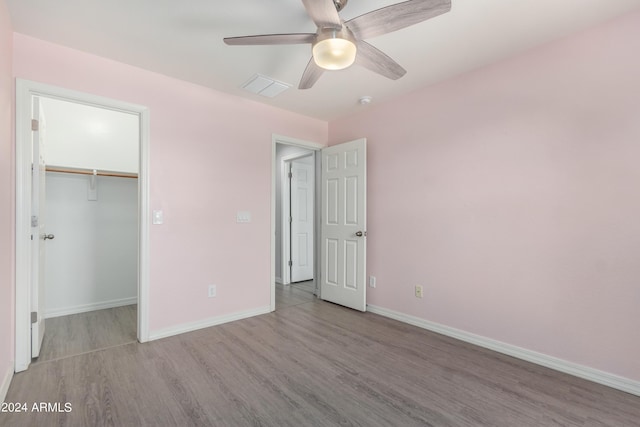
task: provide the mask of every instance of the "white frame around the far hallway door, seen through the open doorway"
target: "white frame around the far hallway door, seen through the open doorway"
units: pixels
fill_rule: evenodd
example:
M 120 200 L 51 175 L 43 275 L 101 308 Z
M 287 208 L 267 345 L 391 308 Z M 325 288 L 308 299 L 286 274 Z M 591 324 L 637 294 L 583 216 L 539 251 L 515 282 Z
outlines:
M 291 180 L 288 179 L 288 177 L 286 176 L 286 172 L 285 170 L 282 168 L 283 165 L 285 164 L 291 164 L 293 161 L 295 160 L 299 160 L 299 159 L 304 159 L 305 157 L 311 157 L 313 160 L 313 173 L 314 173 L 314 181 L 313 181 L 313 186 L 314 186 L 314 191 L 313 194 L 316 194 L 315 191 L 315 187 L 316 187 L 316 180 L 315 180 L 315 175 L 317 174 L 316 172 L 316 164 L 315 164 L 315 160 L 316 160 L 316 150 L 312 150 L 309 153 L 304 153 L 304 154 L 291 154 L 289 156 L 284 156 L 282 158 L 282 163 L 280 164 L 280 168 L 282 169 L 282 186 L 280 188 L 281 194 L 282 194 L 282 224 L 281 224 L 281 230 L 282 230 L 282 284 L 283 285 L 289 285 L 291 284 L 291 268 L 288 265 L 288 260 L 291 259 L 291 223 L 289 223 L 287 221 L 287 218 L 291 216 Z M 288 197 L 285 197 L 288 196 Z M 317 209 L 315 209 L 316 206 L 316 201 L 317 197 L 314 197 L 314 221 L 315 221 L 315 214 Z M 288 203 L 287 203 L 288 202 Z M 315 233 L 314 233 L 314 238 L 313 238 L 313 246 L 314 248 L 316 247 L 316 239 L 315 239 Z M 315 251 L 314 251 L 314 258 L 315 258 Z

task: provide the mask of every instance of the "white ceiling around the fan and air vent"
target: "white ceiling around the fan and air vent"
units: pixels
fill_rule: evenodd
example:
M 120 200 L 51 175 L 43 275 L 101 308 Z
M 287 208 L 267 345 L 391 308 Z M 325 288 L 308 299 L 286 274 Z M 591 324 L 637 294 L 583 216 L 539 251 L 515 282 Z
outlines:
M 0 0 L 1 1 L 1 0 Z M 4 0 L 14 30 L 168 76 L 331 120 L 640 8 L 640 0 L 452 0 L 451 12 L 369 39 L 407 74 L 353 66 L 297 85 L 309 45 L 227 46 L 223 37 L 315 32 L 301 0 Z M 399 0 L 350 0 L 348 20 Z M 274 99 L 240 89 L 254 73 L 291 84 Z

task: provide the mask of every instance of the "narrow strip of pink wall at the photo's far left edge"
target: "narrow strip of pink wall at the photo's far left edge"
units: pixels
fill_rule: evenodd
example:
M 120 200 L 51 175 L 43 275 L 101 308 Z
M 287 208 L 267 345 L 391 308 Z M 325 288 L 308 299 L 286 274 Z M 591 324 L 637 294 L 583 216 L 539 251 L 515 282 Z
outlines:
M 13 369 L 13 76 L 9 11 L 0 1 L 0 386 Z

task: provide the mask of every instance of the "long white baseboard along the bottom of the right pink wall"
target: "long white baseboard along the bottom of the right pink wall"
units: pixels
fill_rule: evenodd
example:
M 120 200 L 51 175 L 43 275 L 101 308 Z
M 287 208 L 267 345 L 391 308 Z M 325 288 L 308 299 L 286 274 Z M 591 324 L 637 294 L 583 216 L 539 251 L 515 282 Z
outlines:
M 597 369 L 589 368 L 587 366 L 578 365 L 573 362 L 569 362 L 557 357 L 549 356 L 543 353 L 527 350 L 525 348 L 517 347 L 511 344 L 507 344 L 501 341 L 496 341 L 491 338 L 486 338 L 480 335 L 465 332 L 460 329 L 451 328 L 449 326 L 441 325 L 439 323 L 431 322 L 421 319 L 419 317 L 409 316 L 404 313 L 389 310 L 375 305 L 368 305 L 367 310 L 371 313 L 379 314 L 381 316 L 389 317 L 391 319 L 398 320 L 403 323 L 417 326 L 419 328 L 427 329 L 438 334 L 446 335 L 465 341 L 471 344 L 478 345 L 480 347 L 488 348 L 489 350 L 497 351 L 499 353 L 513 356 L 518 359 L 526 360 L 537 365 L 545 366 L 547 368 L 554 369 L 559 372 L 564 372 L 569 375 L 573 375 L 579 378 L 583 378 L 595 383 L 603 384 L 611 388 L 622 390 L 624 392 L 640 396 L 640 382 L 629 378 L 620 377 L 618 375 L 610 374 L 608 372 L 600 371 Z

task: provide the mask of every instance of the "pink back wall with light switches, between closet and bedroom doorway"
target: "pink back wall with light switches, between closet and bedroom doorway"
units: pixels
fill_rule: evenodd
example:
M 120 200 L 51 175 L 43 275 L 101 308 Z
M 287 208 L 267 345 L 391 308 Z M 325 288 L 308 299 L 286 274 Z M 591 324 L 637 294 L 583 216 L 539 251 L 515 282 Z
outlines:
M 150 329 L 270 303 L 272 133 L 324 143 L 327 123 L 14 35 L 15 76 L 151 112 Z M 248 210 L 250 224 L 236 224 Z M 208 299 L 207 285 L 218 296 Z

